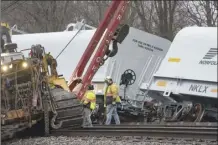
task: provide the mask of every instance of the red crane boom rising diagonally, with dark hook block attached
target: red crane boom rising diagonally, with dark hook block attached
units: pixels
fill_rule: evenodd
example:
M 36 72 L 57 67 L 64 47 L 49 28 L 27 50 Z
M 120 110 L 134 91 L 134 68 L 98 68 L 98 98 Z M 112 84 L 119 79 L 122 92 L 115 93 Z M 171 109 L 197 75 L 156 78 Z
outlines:
M 76 69 L 74 70 L 68 85 L 70 91 L 73 91 L 75 86 L 78 84 L 78 81 L 82 80 L 82 82 L 80 83 L 80 88 L 76 93 L 78 99 L 82 99 L 87 86 L 91 83 L 91 80 L 94 77 L 97 70 L 99 69 L 99 67 L 103 65 L 104 61 L 106 60 L 104 59 L 104 57 L 114 56 L 117 52 L 117 43 L 122 43 L 124 38 L 129 33 L 128 25 L 120 25 L 128 3 L 129 1 L 112 1 L 111 5 L 105 13 L 105 18 L 97 28 L 87 49 L 81 57 Z M 106 33 L 99 45 L 99 48 L 96 54 L 94 55 L 93 59 L 91 60 L 91 63 L 86 73 L 84 74 L 83 78 L 81 78 L 84 68 L 86 67 L 89 59 L 91 58 L 105 30 Z M 113 49 L 115 49 L 113 51 L 109 50 L 109 44 L 111 40 L 113 40 Z

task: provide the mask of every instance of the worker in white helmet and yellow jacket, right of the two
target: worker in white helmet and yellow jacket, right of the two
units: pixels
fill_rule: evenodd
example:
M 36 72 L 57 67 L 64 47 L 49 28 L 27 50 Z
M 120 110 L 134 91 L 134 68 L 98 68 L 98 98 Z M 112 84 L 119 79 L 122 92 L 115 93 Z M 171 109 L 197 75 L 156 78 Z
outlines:
M 106 125 L 111 124 L 112 116 L 114 117 L 115 123 L 120 124 L 120 118 L 117 113 L 117 103 L 120 102 L 120 97 L 118 95 L 118 86 L 113 83 L 111 77 L 106 77 L 105 82 L 107 84 L 105 90 L 105 105 L 106 105 Z

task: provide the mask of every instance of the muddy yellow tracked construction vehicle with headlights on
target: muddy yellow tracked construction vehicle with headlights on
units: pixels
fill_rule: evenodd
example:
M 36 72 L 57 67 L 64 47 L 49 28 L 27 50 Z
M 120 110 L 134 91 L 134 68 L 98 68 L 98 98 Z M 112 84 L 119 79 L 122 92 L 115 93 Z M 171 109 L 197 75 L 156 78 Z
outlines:
M 65 124 L 81 126 L 83 106 L 58 75 L 52 55 L 41 45 L 17 52 L 10 27 L 3 22 L 1 42 L 2 140 L 39 123 L 45 134 Z M 30 51 L 29 58 L 23 51 Z

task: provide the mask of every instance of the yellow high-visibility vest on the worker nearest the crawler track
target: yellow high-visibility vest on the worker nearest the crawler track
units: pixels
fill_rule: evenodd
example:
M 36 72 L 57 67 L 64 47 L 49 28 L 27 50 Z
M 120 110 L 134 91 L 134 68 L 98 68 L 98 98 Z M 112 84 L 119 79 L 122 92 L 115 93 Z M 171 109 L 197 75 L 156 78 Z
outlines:
M 83 98 L 83 104 L 86 105 L 90 103 L 90 109 L 94 110 L 96 107 L 96 95 L 94 91 L 87 91 Z

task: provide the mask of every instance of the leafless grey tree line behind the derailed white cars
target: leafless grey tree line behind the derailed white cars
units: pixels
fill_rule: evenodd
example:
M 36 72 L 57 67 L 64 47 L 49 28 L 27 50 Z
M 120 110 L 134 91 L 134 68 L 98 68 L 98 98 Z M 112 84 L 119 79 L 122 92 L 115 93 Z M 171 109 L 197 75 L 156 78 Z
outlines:
M 97 27 L 110 1 L 2 1 L 1 19 L 28 33 L 63 31 L 85 19 Z M 217 26 L 217 1 L 131 1 L 124 22 L 169 40 L 187 26 Z

